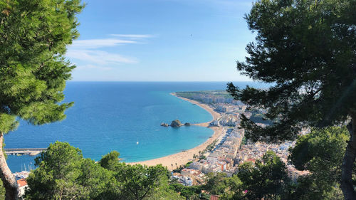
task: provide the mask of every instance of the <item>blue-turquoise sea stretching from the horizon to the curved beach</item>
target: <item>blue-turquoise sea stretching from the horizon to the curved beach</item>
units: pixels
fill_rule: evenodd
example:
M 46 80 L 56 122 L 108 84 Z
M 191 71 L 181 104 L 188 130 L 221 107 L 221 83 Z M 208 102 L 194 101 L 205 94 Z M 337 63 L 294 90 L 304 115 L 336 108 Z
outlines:
M 206 141 L 207 127 L 162 127 L 172 120 L 201 123 L 213 119 L 201 107 L 170 95 L 178 91 L 225 90 L 227 82 L 73 82 L 66 85 L 64 102 L 74 102 L 61 122 L 34 126 L 20 120 L 14 132 L 5 135 L 5 148 L 46 148 L 60 141 L 100 160 L 112 150 L 123 162 L 139 162 L 191 149 Z M 244 88 L 256 82 L 235 82 Z M 34 169 L 36 156 L 9 155 L 12 172 Z

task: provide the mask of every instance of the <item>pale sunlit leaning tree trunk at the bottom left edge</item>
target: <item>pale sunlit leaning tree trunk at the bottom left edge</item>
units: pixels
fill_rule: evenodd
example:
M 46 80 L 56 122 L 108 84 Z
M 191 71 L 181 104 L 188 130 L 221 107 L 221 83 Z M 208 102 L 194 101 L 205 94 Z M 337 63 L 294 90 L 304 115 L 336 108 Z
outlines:
M 4 135 L 0 132 L 0 178 L 5 187 L 5 200 L 19 199 L 19 186 L 15 176 L 11 173 L 11 170 L 7 166 L 2 144 L 4 142 Z

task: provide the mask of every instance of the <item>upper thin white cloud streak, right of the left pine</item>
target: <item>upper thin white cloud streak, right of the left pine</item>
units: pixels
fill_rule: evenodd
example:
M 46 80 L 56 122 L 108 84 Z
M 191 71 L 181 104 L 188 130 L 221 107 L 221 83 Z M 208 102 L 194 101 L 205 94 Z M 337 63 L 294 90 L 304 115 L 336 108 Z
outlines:
M 93 49 L 93 48 L 103 48 L 103 47 L 110 47 L 110 46 L 119 46 L 122 44 L 129 44 L 129 43 L 137 43 L 137 41 L 120 40 L 116 38 L 79 40 L 79 41 L 73 41 L 73 44 L 70 45 L 69 48 Z

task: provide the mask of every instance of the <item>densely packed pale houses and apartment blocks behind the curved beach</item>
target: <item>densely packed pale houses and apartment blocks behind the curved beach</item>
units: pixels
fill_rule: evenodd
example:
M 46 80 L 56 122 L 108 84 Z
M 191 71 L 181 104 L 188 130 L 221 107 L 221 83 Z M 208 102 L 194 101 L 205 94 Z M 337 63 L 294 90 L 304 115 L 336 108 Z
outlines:
M 288 175 L 295 181 L 299 176 L 308 174 L 295 169 L 287 162 L 288 149 L 294 147 L 295 141 L 287 141 L 282 144 L 267 144 L 263 142 L 247 142 L 242 144 L 244 139 L 244 130 L 239 128 L 240 115 L 251 117 L 252 113 L 246 110 L 246 105 L 232 98 L 214 97 L 214 95 L 194 95 L 194 100 L 210 103 L 214 110 L 221 113 L 219 120 L 210 123 L 211 126 L 222 126 L 225 130 L 224 137 L 219 144 L 206 154 L 205 159 L 192 162 L 189 167 L 182 169 L 181 173 L 174 173 L 173 177 L 186 186 L 192 186 L 204 183 L 204 174 L 210 172 L 224 172 L 228 177 L 238 172 L 239 164 L 244 162 L 256 162 L 261 159 L 263 154 L 271 150 L 281 157 L 281 160 L 287 164 Z M 262 110 L 261 112 L 266 112 Z M 258 123 L 261 127 L 268 124 Z M 300 134 L 306 134 L 308 130 L 303 130 Z

